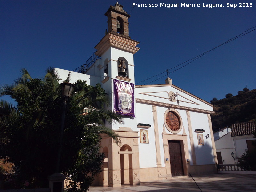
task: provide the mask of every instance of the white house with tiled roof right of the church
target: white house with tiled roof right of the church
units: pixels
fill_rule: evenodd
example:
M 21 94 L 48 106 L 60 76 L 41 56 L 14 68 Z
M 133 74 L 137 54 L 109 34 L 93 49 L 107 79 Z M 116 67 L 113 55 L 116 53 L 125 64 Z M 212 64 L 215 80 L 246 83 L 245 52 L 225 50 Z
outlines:
M 252 150 L 255 127 L 255 122 L 232 124 L 232 131 L 215 141 L 218 164 L 237 164 L 236 157 L 243 155 L 246 150 Z

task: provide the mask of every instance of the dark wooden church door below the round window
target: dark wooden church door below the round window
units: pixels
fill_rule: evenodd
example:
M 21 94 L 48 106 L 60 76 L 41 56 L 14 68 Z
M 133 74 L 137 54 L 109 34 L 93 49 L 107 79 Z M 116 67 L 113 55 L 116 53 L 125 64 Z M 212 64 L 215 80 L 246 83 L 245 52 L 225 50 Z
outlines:
M 180 141 L 169 140 L 169 154 L 172 177 L 184 175 Z

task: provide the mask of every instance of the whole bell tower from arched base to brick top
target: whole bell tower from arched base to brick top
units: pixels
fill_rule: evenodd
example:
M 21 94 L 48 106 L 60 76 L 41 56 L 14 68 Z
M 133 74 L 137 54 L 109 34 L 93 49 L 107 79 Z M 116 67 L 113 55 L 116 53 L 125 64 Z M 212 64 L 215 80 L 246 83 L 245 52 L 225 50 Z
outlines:
M 108 158 L 104 160 L 106 166 L 103 167 L 99 184 L 110 187 L 120 187 L 121 183 L 138 185 L 140 184 L 139 135 L 135 113 L 136 101 L 131 92 L 134 91 L 135 84 L 133 55 L 140 49 L 136 47 L 139 42 L 129 36 L 130 15 L 123 10 L 122 5 L 116 3 L 115 6 L 110 6 L 105 16 L 108 18 L 108 31 L 95 46 L 97 50 L 95 54 L 101 58 L 95 62 L 94 68 L 91 67 L 91 71 L 92 74 L 100 77 L 101 87 L 111 97 L 112 105 L 106 106 L 105 109 L 122 112 L 124 124 L 106 122 L 106 126 L 122 135 L 122 146 L 118 146 L 108 137 L 102 138 L 100 145 L 105 150 L 104 153 L 108 154 L 106 155 Z M 117 84 L 125 88 L 116 88 Z M 116 99 L 119 96 L 114 97 L 115 93 L 127 97 L 123 96 L 119 100 Z M 122 111 L 116 110 L 118 106 L 122 106 L 120 108 Z

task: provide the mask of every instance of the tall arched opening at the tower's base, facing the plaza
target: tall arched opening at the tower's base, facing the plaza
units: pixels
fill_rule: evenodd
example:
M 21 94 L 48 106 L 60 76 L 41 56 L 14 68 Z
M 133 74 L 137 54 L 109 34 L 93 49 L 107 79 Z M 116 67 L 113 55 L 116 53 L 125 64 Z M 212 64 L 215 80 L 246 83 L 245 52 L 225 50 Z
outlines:
M 132 184 L 132 148 L 123 145 L 120 148 L 121 184 Z

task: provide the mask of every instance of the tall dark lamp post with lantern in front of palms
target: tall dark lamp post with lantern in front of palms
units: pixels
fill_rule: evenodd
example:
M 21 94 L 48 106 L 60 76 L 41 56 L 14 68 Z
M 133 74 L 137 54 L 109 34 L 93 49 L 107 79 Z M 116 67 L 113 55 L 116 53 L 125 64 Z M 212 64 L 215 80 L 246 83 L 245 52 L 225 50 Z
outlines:
M 62 109 L 62 117 L 61 117 L 61 127 L 60 127 L 60 144 L 59 144 L 59 150 L 58 150 L 58 159 L 57 159 L 57 166 L 56 166 L 56 172 L 58 173 L 60 171 L 60 156 L 62 151 L 62 144 L 63 144 L 63 130 L 64 130 L 64 122 L 65 122 L 65 113 L 66 113 L 66 106 L 67 106 L 67 99 L 70 97 L 73 88 L 75 87 L 72 83 L 63 82 L 60 84 L 62 89 L 62 96 L 64 98 L 63 102 L 63 109 Z

